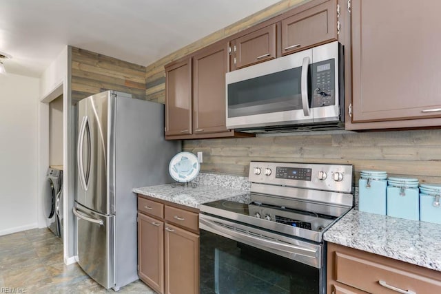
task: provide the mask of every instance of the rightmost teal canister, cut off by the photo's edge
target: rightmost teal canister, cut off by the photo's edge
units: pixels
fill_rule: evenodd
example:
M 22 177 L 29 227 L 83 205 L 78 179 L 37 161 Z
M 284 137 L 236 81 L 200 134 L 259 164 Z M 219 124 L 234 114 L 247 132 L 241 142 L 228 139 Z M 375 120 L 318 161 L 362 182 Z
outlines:
M 441 184 L 420 185 L 420 220 L 441 224 Z

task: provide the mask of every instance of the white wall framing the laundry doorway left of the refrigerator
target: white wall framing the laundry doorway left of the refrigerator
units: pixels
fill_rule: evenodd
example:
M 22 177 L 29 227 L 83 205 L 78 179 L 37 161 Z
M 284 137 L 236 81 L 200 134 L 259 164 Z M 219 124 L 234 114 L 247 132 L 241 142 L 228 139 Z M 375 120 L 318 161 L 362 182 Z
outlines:
M 74 258 L 74 216 L 72 207 L 74 203 L 74 174 L 72 162 L 74 161 L 74 134 L 72 123 L 75 123 L 72 114 L 70 99 L 70 62 L 71 49 L 66 45 L 40 78 L 39 103 L 39 142 L 38 142 L 38 183 L 39 183 L 39 226 L 45 225 L 43 218 L 43 195 L 45 193 L 45 172 L 49 166 L 49 105 L 51 101 L 63 95 L 63 213 L 64 213 L 64 262 L 71 264 Z

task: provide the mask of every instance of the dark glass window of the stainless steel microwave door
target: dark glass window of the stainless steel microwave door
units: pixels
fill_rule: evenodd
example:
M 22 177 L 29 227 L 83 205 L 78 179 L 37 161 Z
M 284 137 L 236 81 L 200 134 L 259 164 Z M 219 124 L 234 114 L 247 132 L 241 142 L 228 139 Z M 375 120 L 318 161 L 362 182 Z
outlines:
M 302 109 L 301 74 L 295 67 L 229 84 L 228 117 Z

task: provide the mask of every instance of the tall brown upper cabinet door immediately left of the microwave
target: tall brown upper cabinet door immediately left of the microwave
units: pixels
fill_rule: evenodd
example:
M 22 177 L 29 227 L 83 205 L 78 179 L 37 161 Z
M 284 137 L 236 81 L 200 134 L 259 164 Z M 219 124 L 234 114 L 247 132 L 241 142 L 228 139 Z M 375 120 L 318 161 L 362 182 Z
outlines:
M 194 56 L 194 134 L 227 132 L 225 74 L 227 43 L 215 44 Z

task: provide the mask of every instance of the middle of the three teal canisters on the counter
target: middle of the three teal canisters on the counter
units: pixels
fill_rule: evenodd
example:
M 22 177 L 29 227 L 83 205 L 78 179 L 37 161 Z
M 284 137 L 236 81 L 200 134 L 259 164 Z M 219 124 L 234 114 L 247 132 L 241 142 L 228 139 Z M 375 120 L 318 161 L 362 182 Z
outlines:
M 387 215 L 407 220 L 420 220 L 418 179 L 387 179 Z

